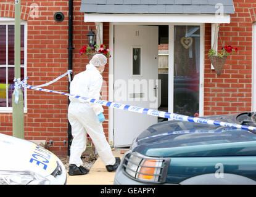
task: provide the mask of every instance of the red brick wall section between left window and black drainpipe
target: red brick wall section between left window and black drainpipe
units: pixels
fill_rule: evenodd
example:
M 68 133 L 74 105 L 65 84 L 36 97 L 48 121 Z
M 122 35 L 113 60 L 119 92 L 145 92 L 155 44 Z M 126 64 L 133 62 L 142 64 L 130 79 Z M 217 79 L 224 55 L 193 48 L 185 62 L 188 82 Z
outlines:
M 28 19 L 28 84 L 39 85 L 52 81 L 68 70 L 68 1 L 37 1 L 39 17 Z M 65 20 L 54 21 L 55 12 L 61 11 Z M 67 77 L 46 89 L 67 92 Z M 37 90 L 28 90 L 28 118 L 26 139 L 53 140 L 49 150 L 58 155 L 67 151 L 68 98 Z

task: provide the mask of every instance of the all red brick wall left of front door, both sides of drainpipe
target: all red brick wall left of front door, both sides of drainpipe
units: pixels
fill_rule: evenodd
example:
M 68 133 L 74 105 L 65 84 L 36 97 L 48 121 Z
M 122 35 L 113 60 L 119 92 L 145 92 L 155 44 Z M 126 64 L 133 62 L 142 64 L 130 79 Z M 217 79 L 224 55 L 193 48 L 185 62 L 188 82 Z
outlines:
M 14 18 L 14 1 L 0 4 L 0 17 Z M 38 17 L 32 18 L 30 8 L 32 3 L 39 6 Z M 78 53 L 87 44 L 88 31 L 95 23 L 83 22 L 84 15 L 80 13 L 81 0 L 73 1 L 73 76 L 85 70 L 88 58 Z M 22 19 L 27 20 L 27 76 L 28 84 L 39 85 L 57 78 L 68 70 L 68 0 L 38 0 L 22 1 Z M 65 20 L 54 21 L 54 13 L 63 12 Z M 104 34 L 108 33 L 109 25 L 104 24 Z M 107 31 L 107 32 L 106 32 Z M 104 36 L 104 44 L 109 43 L 109 36 Z M 107 46 L 108 47 L 108 46 Z M 105 68 L 104 80 L 108 80 L 108 65 Z M 68 92 L 68 78 L 62 78 L 46 89 Z M 105 88 L 107 90 L 107 88 Z M 104 92 L 107 95 L 107 92 Z M 48 149 L 57 155 L 67 155 L 67 108 L 68 97 L 65 95 L 28 90 L 28 113 L 25 113 L 25 139 L 53 140 L 53 146 Z M 108 119 L 107 109 L 105 110 Z M 12 114 L 0 114 L 0 132 L 12 135 Z M 104 124 L 107 132 L 108 122 Z

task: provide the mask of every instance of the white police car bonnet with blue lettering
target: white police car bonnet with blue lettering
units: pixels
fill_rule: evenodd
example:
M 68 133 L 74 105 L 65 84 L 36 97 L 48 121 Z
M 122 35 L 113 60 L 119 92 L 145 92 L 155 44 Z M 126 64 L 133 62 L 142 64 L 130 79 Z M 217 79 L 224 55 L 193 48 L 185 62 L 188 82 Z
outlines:
M 35 143 L 0 134 L 0 171 L 33 171 L 46 177 L 57 167 L 57 156 Z

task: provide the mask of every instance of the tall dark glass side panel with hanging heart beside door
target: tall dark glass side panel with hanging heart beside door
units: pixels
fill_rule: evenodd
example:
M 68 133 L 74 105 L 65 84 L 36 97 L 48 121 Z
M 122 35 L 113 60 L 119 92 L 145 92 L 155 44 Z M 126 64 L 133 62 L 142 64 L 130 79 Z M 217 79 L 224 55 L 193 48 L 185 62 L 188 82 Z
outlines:
M 200 26 L 175 26 L 173 113 L 199 115 Z

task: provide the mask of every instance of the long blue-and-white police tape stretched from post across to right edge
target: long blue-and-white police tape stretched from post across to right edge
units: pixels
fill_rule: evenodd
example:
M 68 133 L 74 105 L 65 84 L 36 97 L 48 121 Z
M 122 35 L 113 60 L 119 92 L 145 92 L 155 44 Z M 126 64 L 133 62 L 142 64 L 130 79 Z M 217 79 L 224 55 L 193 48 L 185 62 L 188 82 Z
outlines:
M 225 122 L 221 122 L 221 121 L 214 121 L 211 119 L 178 115 L 175 113 L 168 113 L 168 112 L 159 111 L 159 110 L 151 110 L 151 109 L 147 109 L 147 108 L 136 107 L 133 105 L 124 105 L 121 103 L 109 102 L 109 101 L 99 100 L 99 99 L 95 99 L 95 98 L 87 98 L 87 97 L 83 97 L 81 95 L 73 95 L 73 94 L 68 94 L 65 92 L 58 92 L 55 90 L 47 90 L 47 89 L 43 89 L 43 88 L 30 86 L 28 84 L 23 83 L 23 81 L 20 83 L 22 84 L 23 87 L 26 87 L 28 89 L 34 89 L 34 90 L 39 90 L 39 91 L 43 91 L 43 92 L 52 92 L 52 93 L 56 93 L 56 94 L 63 94 L 63 95 L 67 95 L 69 97 L 77 98 L 78 100 L 81 100 L 81 102 L 97 103 L 97 104 L 100 104 L 100 105 L 103 105 L 106 107 L 117 108 L 119 110 L 133 111 L 136 113 L 142 113 L 142 114 L 151 115 L 151 116 L 158 116 L 158 117 L 162 117 L 162 118 L 176 119 L 176 120 L 187 121 L 187 122 L 192 122 L 192 123 L 202 123 L 202 124 L 210 124 L 210 125 L 224 126 L 224 127 L 234 127 L 237 129 L 249 129 L 251 131 L 256 131 L 256 127 L 253 127 L 253 126 L 246 126 L 246 125 L 234 124 L 234 123 L 225 123 Z

